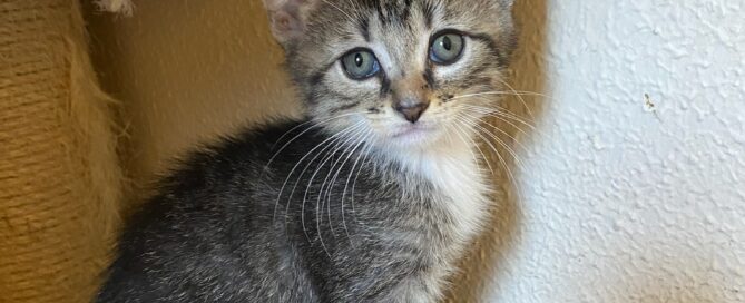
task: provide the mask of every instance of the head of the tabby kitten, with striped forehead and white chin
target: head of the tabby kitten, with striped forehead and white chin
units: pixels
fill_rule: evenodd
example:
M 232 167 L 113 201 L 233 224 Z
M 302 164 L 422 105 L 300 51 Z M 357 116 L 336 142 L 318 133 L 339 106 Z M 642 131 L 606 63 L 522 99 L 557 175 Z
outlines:
M 468 136 L 504 86 L 512 0 L 264 0 L 310 115 L 340 137 Z

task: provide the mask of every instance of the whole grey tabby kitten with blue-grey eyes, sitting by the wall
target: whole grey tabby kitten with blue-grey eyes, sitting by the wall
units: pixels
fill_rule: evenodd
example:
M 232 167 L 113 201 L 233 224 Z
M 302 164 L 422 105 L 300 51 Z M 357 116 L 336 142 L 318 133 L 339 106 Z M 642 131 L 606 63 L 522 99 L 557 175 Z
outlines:
M 188 157 L 98 302 L 435 302 L 489 206 L 511 0 L 265 0 L 308 118 Z

